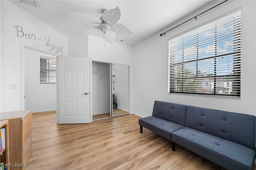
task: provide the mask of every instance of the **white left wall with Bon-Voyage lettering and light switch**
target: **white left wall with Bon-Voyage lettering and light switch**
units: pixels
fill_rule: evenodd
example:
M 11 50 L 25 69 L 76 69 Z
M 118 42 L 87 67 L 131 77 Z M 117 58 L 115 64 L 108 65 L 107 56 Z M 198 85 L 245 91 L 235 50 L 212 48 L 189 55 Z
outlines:
M 9 1 L 1 3 L 1 112 L 22 109 L 24 45 L 56 56 L 68 55 L 68 38 Z M 14 27 L 19 26 L 19 27 Z M 21 31 L 22 27 L 22 31 Z M 17 31 L 18 28 L 18 31 Z M 24 36 L 23 33 L 24 33 Z M 17 34 L 18 33 L 18 34 Z M 27 35 L 26 35 L 27 34 Z M 33 34 L 33 35 L 32 35 Z M 29 39 L 31 38 L 31 39 Z M 49 39 L 50 38 L 50 39 Z M 40 40 L 38 40 L 40 39 Z M 52 45 L 59 50 L 52 49 Z M 54 47 L 55 47 L 54 46 Z M 57 52 L 57 53 L 56 53 Z M 16 84 L 16 90 L 9 90 Z M 4 99 L 4 100 L 3 100 Z

